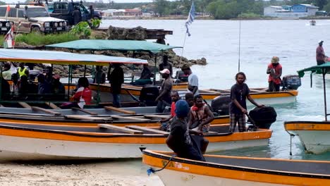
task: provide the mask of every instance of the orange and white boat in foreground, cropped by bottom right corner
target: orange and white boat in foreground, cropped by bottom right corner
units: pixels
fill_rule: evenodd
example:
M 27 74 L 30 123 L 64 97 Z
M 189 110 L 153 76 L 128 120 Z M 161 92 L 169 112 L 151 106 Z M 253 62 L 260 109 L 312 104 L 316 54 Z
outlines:
M 206 161 L 181 159 L 164 151 L 143 151 L 164 185 L 330 185 L 330 161 L 204 155 Z M 164 168 L 161 170 L 161 168 Z

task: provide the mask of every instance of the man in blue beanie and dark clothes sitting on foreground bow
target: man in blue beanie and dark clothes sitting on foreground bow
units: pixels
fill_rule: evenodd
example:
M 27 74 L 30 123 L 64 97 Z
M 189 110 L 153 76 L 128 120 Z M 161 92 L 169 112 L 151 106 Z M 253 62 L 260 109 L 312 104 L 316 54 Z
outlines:
M 196 143 L 191 139 L 190 133 L 203 135 L 201 131 L 188 129 L 186 118 L 189 113 L 189 106 L 186 101 L 176 102 L 176 116 L 171 121 L 171 132 L 166 139 L 167 146 L 172 149 L 178 157 L 205 161 Z

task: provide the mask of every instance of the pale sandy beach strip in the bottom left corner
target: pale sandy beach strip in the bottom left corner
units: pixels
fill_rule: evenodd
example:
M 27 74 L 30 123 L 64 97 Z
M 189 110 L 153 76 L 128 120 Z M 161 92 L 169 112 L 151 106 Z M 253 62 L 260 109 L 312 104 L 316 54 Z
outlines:
M 153 185 L 141 159 L 126 161 L 61 161 L 0 163 L 0 185 Z

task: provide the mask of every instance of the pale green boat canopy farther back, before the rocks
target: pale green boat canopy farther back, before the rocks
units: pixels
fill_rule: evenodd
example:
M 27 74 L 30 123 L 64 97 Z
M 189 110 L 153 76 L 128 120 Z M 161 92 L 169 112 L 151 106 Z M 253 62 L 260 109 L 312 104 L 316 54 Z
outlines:
M 72 42 L 63 42 L 58 44 L 49 44 L 46 47 L 66 48 L 75 50 L 116 50 L 116 51 L 148 51 L 157 54 L 174 48 L 182 48 L 181 46 L 169 46 L 147 41 L 135 40 L 107 40 L 107 39 L 80 39 Z

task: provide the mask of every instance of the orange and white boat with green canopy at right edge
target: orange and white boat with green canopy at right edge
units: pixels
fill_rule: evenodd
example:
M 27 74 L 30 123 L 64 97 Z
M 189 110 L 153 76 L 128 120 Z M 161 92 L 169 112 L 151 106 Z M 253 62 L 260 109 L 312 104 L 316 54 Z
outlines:
M 284 128 L 291 137 L 298 135 L 302 146 L 307 153 L 321 154 L 330 151 L 330 122 L 327 116 L 326 108 L 326 83 L 325 75 L 330 70 L 330 63 L 324 63 L 319 66 L 312 66 L 298 70 L 300 77 L 305 75 L 305 72 L 321 73 L 323 77 L 323 92 L 324 92 L 324 118 L 325 121 L 286 121 Z M 312 77 L 311 73 L 311 77 Z M 312 78 L 311 78 L 312 80 Z M 312 82 L 311 82 L 312 85 Z

